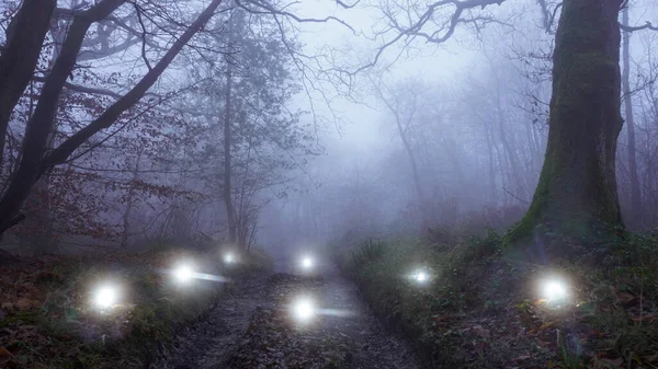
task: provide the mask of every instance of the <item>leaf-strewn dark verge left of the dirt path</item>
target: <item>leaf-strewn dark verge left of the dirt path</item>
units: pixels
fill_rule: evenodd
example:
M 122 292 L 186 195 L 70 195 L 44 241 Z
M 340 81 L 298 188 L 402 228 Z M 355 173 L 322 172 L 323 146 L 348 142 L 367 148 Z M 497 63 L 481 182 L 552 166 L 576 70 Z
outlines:
M 201 279 L 177 285 L 167 270 L 179 260 L 232 279 L 270 263 L 256 252 L 239 266 L 225 268 L 217 255 L 171 250 L 20 257 L 0 266 L 0 367 L 144 367 L 160 343 L 203 316 L 230 288 Z M 120 299 L 101 312 L 91 301 L 94 288 L 107 281 L 120 286 Z

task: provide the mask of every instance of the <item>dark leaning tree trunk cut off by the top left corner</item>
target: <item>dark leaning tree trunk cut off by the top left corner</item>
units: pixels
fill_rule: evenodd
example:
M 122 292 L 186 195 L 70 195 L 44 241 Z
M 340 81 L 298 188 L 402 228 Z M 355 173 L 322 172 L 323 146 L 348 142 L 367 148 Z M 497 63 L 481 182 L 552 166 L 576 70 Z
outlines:
M 7 30 L 0 55 L 0 163 L 11 112 L 32 79 L 56 5 L 56 0 L 25 0 Z

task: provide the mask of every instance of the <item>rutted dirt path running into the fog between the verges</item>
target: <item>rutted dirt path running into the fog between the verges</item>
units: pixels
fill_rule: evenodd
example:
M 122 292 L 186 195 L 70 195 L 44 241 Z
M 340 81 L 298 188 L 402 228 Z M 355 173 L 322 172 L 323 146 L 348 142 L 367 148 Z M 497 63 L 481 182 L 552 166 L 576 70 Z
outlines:
M 319 277 L 294 275 L 284 264 L 269 277 L 236 286 L 207 320 L 161 353 L 158 369 L 415 369 L 407 346 L 389 336 L 360 299 L 355 286 L 333 268 Z M 313 296 L 322 313 L 295 322 L 290 302 Z

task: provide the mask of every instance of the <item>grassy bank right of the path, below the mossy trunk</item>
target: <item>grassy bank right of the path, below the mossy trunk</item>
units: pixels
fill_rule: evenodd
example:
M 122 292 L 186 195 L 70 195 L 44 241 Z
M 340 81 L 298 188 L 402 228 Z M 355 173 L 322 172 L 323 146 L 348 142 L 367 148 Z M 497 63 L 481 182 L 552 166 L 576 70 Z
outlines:
M 371 307 L 444 368 L 658 367 L 658 241 L 564 242 L 579 257 L 526 263 L 502 238 L 367 240 L 338 255 Z M 416 268 L 431 278 L 413 280 Z M 542 300 L 559 276 L 569 298 Z

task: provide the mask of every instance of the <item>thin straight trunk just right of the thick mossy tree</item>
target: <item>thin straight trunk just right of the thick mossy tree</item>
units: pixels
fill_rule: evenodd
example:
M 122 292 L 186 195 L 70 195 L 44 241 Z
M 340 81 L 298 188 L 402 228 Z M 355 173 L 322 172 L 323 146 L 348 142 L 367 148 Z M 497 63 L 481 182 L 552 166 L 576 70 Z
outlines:
M 628 24 L 628 7 L 624 8 L 622 24 Z M 622 58 L 624 61 L 624 69 L 622 71 L 622 83 L 625 96 L 624 109 L 626 116 L 626 132 L 628 135 L 628 174 L 631 176 L 631 218 L 628 219 L 628 223 L 632 227 L 640 227 L 643 220 L 643 206 L 635 149 L 635 119 L 633 118 L 633 95 L 631 93 L 631 32 L 628 31 L 623 31 Z

